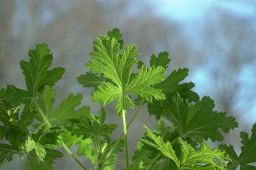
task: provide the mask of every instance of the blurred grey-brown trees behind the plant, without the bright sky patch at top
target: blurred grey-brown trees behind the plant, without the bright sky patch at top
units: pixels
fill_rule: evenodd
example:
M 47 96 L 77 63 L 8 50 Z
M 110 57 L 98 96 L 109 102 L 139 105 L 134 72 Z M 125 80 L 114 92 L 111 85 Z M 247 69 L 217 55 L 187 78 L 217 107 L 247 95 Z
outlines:
M 126 44 L 139 47 L 143 61 L 148 61 L 152 53 L 167 50 L 171 56 L 171 70 L 189 67 L 190 71 L 195 71 L 203 65 L 203 71 L 212 80 L 204 92 L 216 100 L 219 110 L 239 117 L 238 113 L 241 115 L 251 108 L 256 92 L 248 94 L 246 90 L 253 89 L 249 86 L 255 86 L 256 80 L 251 77 L 253 83 L 242 82 L 241 71 L 248 67 L 255 71 L 256 68 L 253 67 L 256 65 L 253 18 L 240 18 L 213 9 L 205 13 L 201 27 L 197 21 L 188 25 L 160 18 L 153 8 L 145 0 L 0 1 L 0 87 L 6 83 L 24 86 L 18 61 L 27 60 L 27 50 L 33 49 L 35 44 L 46 42 L 53 51 L 53 66 L 66 68 L 63 80 L 56 84 L 61 94 L 58 97 L 63 99 L 70 92 L 83 92 L 86 105 L 91 105 L 96 112 L 98 105 L 89 100 L 92 89 L 82 88 L 76 77 L 85 71 L 83 65 L 89 59 L 96 36 L 118 27 Z M 190 31 L 193 35 L 197 30 L 197 39 L 190 38 L 187 27 L 194 30 Z M 193 43 L 199 44 L 197 48 L 193 48 Z M 111 112 L 111 108 L 108 109 Z M 149 122 L 145 114 L 142 111 L 139 116 Z M 114 114 L 109 116 L 111 121 L 119 121 Z M 137 131 L 136 122 L 133 127 L 130 131 Z M 134 134 L 134 139 L 128 139 L 136 143 L 137 136 L 142 134 Z M 72 169 L 68 161 L 67 157 L 66 169 Z

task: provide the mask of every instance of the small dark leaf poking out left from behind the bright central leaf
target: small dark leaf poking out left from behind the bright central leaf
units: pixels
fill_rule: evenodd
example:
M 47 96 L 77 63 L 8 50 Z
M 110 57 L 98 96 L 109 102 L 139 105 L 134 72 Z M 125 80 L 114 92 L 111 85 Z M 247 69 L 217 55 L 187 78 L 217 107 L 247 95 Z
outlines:
M 84 87 L 94 87 L 100 86 L 105 82 L 105 79 L 101 76 L 97 76 L 94 73 L 85 73 L 83 75 L 80 75 L 77 78 L 77 81 L 82 84 Z

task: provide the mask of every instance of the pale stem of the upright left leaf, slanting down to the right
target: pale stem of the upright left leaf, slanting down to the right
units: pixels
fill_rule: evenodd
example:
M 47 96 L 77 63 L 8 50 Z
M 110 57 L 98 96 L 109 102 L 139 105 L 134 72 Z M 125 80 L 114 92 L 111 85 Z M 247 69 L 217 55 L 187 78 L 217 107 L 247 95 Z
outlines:
M 42 111 L 40 105 L 38 105 L 38 102 L 35 100 L 35 98 L 33 98 L 33 103 L 35 103 L 35 107 L 38 108 L 38 111 L 40 113 L 40 115 L 42 116 L 44 122 L 46 123 L 46 125 L 48 126 L 48 128 L 51 128 L 51 123 L 48 121 L 48 119 L 46 118 L 46 116 L 44 115 L 44 112 Z M 66 146 L 66 144 L 64 142 L 61 143 L 61 146 L 66 150 L 66 152 L 68 152 L 68 154 L 76 161 L 76 163 L 78 163 L 81 168 L 83 170 L 87 170 L 83 164 L 79 161 L 78 158 L 76 158 L 76 156 L 71 152 L 71 150 L 68 148 L 68 146 Z

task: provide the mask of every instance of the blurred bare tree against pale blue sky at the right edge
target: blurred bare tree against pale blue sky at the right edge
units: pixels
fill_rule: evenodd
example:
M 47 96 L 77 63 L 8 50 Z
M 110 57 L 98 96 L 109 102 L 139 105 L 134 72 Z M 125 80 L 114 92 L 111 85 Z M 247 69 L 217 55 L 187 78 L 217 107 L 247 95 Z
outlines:
M 214 83 L 205 88 L 216 99 L 218 107 L 240 117 L 238 113 L 248 111 L 255 102 L 256 91 L 245 90 L 253 90 L 256 78 L 242 75 L 249 68 L 256 72 L 255 23 L 253 17 L 234 17 L 223 11 L 214 10 L 209 16 L 212 19 L 205 21 L 203 31 L 206 48 L 201 50 L 205 55 L 203 65 Z M 254 83 L 246 84 L 241 78 Z

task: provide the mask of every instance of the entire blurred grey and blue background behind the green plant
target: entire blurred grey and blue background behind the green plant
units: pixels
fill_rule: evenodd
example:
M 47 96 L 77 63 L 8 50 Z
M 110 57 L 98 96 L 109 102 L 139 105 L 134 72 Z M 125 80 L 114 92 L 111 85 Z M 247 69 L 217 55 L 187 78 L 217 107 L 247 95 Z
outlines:
M 84 64 L 89 61 L 92 41 L 115 27 L 123 33 L 125 45 L 138 46 L 145 63 L 152 54 L 167 51 L 171 57 L 168 75 L 179 67 L 190 69 L 186 82 L 196 84 L 195 92 L 212 97 L 218 111 L 237 118 L 240 127 L 225 137 L 225 143 L 233 143 L 239 153 L 239 132 L 250 135 L 256 122 L 254 0 L 1 0 L 0 88 L 7 84 L 25 87 L 19 61 L 27 61 L 27 51 L 46 42 L 53 52 L 53 67 L 66 68 L 55 86 L 57 103 L 70 92 L 80 92 L 83 105 L 91 105 L 96 113 L 98 104 L 90 101 L 93 89 L 83 88 L 76 77 L 87 71 Z M 107 121 L 122 124 L 112 108 L 106 107 Z M 154 116 L 146 112 L 144 107 L 128 130 L 130 154 L 144 133 L 142 125 L 155 127 Z M 121 131 L 119 126 L 114 135 Z M 24 169 L 18 157 L 13 160 L 0 169 Z M 57 160 L 55 167 L 79 169 L 69 156 Z

